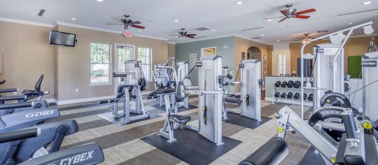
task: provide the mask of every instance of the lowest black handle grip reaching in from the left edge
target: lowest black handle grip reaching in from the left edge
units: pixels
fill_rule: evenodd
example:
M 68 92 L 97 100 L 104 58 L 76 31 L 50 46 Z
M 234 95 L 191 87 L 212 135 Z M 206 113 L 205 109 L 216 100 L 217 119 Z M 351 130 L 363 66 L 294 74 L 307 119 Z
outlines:
M 23 129 L 20 131 L 11 131 L 8 133 L 0 134 L 0 143 L 11 141 L 18 141 L 25 138 L 34 138 L 41 134 L 41 128 Z

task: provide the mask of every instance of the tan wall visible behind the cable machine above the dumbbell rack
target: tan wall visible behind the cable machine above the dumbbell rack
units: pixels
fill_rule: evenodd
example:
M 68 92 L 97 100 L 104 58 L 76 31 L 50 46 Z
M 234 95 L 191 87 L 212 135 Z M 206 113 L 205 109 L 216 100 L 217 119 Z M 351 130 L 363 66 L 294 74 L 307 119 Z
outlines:
M 345 52 L 345 72 L 348 71 L 348 56 L 360 56 L 363 55 L 364 52 L 367 51 L 367 48 L 370 45 L 371 37 L 359 37 L 359 38 L 349 38 L 348 41 L 346 41 L 346 44 L 344 46 L 344 52 Z M 306 45 L 306 48 L 304 48 L 304 53 L 311 53 L 313 54 L 312 47 L 313 45 L 320 44 L 320 43 L 329 43 L 329 40 L 325 41 L 316 41 L 313 43 L 310 43 L 309 45 Z M 374 38 L 374 44 L 378 44 L 378 37 L 376 36 Z M 290 73 L 292 71 L 297 71 L 297 58 L 300 58 L 301 56 L 301 50 L 302 43 L 290 43 Z M 271 56 L 271 55 L 270 55 Z

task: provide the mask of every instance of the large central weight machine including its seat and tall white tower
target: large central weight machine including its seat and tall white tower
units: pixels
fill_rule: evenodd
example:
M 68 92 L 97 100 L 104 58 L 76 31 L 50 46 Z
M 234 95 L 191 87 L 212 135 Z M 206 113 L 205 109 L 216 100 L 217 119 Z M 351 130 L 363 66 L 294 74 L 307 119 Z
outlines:
M 222 57 L 220 56 L 202 56 L 198 67 L 198 91 L 187 90 L 183 82 L 177 82 L 176 97 L 183 99 L 188 94 L 198 94 L 198 127 L 191 127 L 187 122 L 191 117 L 170 113 L 170 103 L 168 96 L 172 92 L 161 92 L 166 98 L 166 122 L 160 130 L 159 135 L 168 138 L 168 143 L 176 141 L 174 129 L 184 127 L 198 131 L 208 140 L 216 145 L 222 145 L 222 83 L 226 78 L 222 76 Z

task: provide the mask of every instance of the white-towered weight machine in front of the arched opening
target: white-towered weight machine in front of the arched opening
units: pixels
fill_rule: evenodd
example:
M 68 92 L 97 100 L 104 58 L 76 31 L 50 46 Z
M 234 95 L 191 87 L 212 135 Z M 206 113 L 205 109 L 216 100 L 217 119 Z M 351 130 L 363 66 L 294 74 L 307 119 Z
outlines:
M 245 59 L 239 64 L 239 69 L 241 69 L 241 98 L 224 96 L 225 118 L 227 119 L 229 112 L 261 121 L 261 87 L 264 85 L 264 80 L 261 79 L 261 62 L 257 59 Z M 227 109 L 225 103 L 241 103 L 241 111 Z

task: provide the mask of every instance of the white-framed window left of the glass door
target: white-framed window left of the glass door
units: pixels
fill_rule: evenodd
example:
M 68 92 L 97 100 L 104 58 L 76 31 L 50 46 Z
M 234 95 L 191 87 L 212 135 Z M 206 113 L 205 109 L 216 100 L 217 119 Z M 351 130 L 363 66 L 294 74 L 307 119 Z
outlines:
M 90 43 L 90 85 L 109 85 L 110 45 Z

